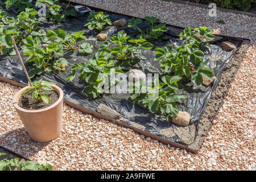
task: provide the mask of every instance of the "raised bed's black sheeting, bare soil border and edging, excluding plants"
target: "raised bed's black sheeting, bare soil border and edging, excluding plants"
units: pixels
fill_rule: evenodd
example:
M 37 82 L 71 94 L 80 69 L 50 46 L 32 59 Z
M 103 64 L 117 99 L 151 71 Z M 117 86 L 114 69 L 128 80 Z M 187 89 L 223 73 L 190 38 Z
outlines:
M 109 19 L 114 22 L 118 19 L 130 20 L 130 17 L 108 13 Z M 75 63 L 88 63 L 88 60 L 93 56 L 98 49 L 100 42 L 96 40 L 96 34 L 84 27 L 87 23 L 86 16 L 77 15 L 75 18 L 68 18 L 65 23 L 55 24 L 53 22 L 43 22 L 41 28 L 45 30 L 55 30 L 56 28 L 64 29 L 68 32 L 85 31 L 86 40 L 93 45 L 93 53 L 91 55 L 81 56 L 79 50 L 65 51 L 63 56 L 68 62 L 68 68 L 65 72 L 44 72 L 41 77 L 47 81 L 57 82 L 57 85 L 64 90 L 65 103 L 81 110 L 84 113 L 92 114 L 97 118 L 104 118 L 119 125 L 134 129 L 138 133 L 148 137 L 160 140 L 163 143 L 171 144 L 172 146 L 186 148 L 189 151 L 197 152 L 206 137 L 213 119 L 217 114 L 222 100 L 228 92 L 233 76 L 236 74 L 241 60 L 246 52 L 249 40 L 240 38 L 230 38 L 227 36 L 217 36 L 213 40 L 212 46 L 208 52 L 205 52 L 204 61 L 212 69 L 216 79 L 212 86 L 196 86 L 192 82 L 183 82 L 177 92 L 186 93 L 189 95 L 188 100 L 182 100 L 180 110 L 187 111 L 191 115 L 191 123 L 189 126 L 177 126 L 171 122 L 166 122 L 166 117 L 161 117 L 158 114 L 152 114 L 147 109 L 142 109 L 135 104 L 129 94 L 105 94 L 101 98 L 90 99 L 84 96 L 84 86 L 79 78 L 75 78 L 73 82 L 66 82 L 69 73 L 71 73 L 72 65 Z M 142 24 L 142 28 L 145 25 Z M 168 26 L 167 26 L 168 27 Z M 172 44 L 177 47 L 183 43 L 179 35 L 181 27 L 172 27 L 174 31 L 166 31 L 165 35 L 170 36 L 168 40 L 160 42 L 160 47 Z M 132 34 L 134 28 L 108 26 L 105 32 L 108 37 L 117 35 L 120 30 L 125 30 L 127 34 Z M 221 47 L 221 42 L 229 41 L 236 45 L 237 49 L 227 51 Z M 20 52 L 21 52 L 20 47 Z M 161 73 L 162 68 L 159 67 L 159 62 L 154 61 L 155 54 L 153 51 L 139 51 L 141 55 L 146 57 L 146 60 L 141 60 L 137 64 L 132 65 L 133 69 L 142 70 L 145 73 Z M 27 56 L 22 56 L 27 59 Z M 11 69 L 10 69 L 11 68 Z M 28 67 L 29 68 L 29 67 Z M 17 56 L 2 56 L 0 61 L 0 80 L 10 82 L 13 85 L 21 86 L 26 84 L 27 80 L 20 71 L 22 67 L 18 64 Z M 33 79 L 38 80 L 34 77 Z M 97 113 L 98 106 L 104 104 L 121 114 L 119 118 L 110 118 L 110 115 Z M 122 119 L 121 119 L 122 118 Z

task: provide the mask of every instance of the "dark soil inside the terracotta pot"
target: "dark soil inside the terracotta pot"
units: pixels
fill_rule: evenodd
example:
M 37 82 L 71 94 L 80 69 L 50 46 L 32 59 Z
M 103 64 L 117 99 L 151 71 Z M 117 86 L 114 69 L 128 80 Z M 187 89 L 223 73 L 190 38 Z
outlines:
M 59 99 L 59 93 L 57 93 L 55 90 L 42 90 L 42 94 L 48 95 L 49 104 L 46 104 L 46 102 L 42 100 L 35 102 L 31 92 L 19 98 L 18 106 L 27 110 L 44 109 L 46 107 L 53 105 Z

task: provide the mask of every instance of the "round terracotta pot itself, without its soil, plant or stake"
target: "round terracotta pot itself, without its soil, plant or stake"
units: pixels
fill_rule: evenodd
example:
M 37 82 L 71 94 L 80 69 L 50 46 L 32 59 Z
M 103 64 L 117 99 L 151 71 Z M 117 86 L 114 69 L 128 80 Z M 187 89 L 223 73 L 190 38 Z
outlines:
M 60 135 L 64 94 L 59 86 L 51 86 L 57 93 L 59 93 L 59 99 L 55 104 L 44 109 L 27 110 L 18 106 L 19 98 L 29 86 L 19 90 L 13 98 L 13 105 L 18 112 L 23 125 L 30 137 L 36 142 L 49 142 Z

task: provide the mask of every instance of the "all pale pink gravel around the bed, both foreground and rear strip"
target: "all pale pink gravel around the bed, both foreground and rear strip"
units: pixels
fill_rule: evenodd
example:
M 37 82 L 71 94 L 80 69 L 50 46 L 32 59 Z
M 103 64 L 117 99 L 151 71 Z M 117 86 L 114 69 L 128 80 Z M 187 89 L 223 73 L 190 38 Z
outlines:
M 86 3 L 138 17 L 155 15 L 181 27 L 210 25 L 222 35 L 252 40 L 199 154 L 166 146 L 133 130 L 82 114 L 67 105 L 64 106 L 60 137 L 45 144 L 34 142 L 28 137 L 11 104 L 19 88 L 4 82 L 0 82 L 0 145 L 31 160 L 50 163 L 57 170 L 256 169 L 255 18 L 220 11 L 217 18 L 210 18 L 206 9 L 160 0 Z M 214 23 L 218 19 L 223 19 L 226 24 Z

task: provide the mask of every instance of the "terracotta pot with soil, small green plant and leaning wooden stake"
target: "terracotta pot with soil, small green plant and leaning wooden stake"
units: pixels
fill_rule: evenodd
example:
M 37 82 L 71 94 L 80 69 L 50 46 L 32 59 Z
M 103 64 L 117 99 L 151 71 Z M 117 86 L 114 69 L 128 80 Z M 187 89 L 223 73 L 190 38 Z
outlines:
M 43 79 L 31 82 L 19 55 L 14 38 L 14 48 L 28 79 L 28 86 L 14 95 L 13 105 L 26 128 L 36 142 L 49 142 L 60 135 L 63 114 L 63 90 Z

